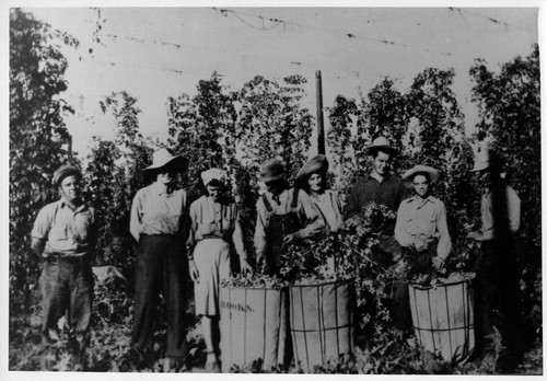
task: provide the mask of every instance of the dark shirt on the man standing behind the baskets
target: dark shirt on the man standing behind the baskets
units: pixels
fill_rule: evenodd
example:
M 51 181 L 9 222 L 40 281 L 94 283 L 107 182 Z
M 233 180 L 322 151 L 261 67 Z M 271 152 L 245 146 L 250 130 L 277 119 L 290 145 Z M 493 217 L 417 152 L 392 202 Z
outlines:
M 385 205 L 393 211 L 397 211 L 406 195 L 407 189 L 398 177 L 385 176 L 382 182 L 379 182 L 373 175 L 360 178 L 351 189 L 346 218 L 362 215 L 372 203 Z

